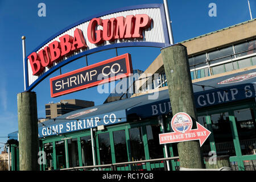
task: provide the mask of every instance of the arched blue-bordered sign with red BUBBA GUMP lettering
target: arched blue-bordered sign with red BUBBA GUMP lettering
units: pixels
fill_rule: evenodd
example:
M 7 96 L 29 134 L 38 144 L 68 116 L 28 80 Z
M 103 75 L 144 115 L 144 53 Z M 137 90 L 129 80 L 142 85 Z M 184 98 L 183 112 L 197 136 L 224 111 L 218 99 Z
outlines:
M 163 4 L 129 6 L 90 16 L 57 32 L 26 56 L 26 90 L 64 65 L 95 52 L 169 45 Z

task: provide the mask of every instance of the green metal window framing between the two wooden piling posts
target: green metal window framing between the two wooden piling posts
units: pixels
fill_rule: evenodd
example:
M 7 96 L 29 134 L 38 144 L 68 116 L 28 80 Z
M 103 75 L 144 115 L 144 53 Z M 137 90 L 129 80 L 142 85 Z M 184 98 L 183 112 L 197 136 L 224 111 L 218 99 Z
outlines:
M 145 155 L 145 159 L 150 159 L 150 154 L 149 154 L 149 150 L 148 150 L 148 143 L 147 143 L 147 131 L 146 131 L 146 126 L 147 125 L 157 125 L 158 124 L 158 119 L 157 118 L 150 118 L 150 119 L 146 119 L 144 121 L 140 121 L 140 122 L 130 122 L 130 123 L 124 123 L 121 125 L 115 125 L 115 126 L 110 126 L 108 127 L 106 130 L 100 130 L 100 131 L 96 131 L 96 135 L 94 138 L 94 152 L 96 152 L 97 154 L 97 160 L 96 160 L 96 165 L 100 164 L 100 150 L 99 150 L 99 143 L 98 143 L 98 134 L 102 134 L 102 133 L 109 133 L 109 138 L 110 138 L 110 148 L 112 151 L 112 163 L 115 163 L 115 152 L 114 152 L 114 139 L 113 139 L 113 132 L 114 131 L 119 131 L 119 130 L 125 130 L 125 136 L 126 136 L 126 149 L 127 149 L 127 158 L 129 161 L 131 161 L 131 150 L 130 150 L 130 136 L 129 136 L 129 129 L 133 128 L 133 127 L 142 127 L 142 139 L 143 139 L 143 144 L 144 144 L 144 155 Z M 162 132 L 162 129 L 160 129 Z M 79 166 L 82 166 L 82 154 L 81 154 L 81 137 L 85 137 L 85 136 L 90 136 L 90 131 L 79 131 L 76 133 L 69 133 L 69 134 L 65 134 L 65 135 L 58 135 L 58 136 L 52 136 L 52 137 L 47 137 L 45 139 L 42 139 L 42 145 L 44 145 L 45 143 L 49 143 L 52 142 L 52 146 L 53 146 L 53 169 L 57 169 L 57 159 L 56 159 L 56 151 L 55 151 L 55 142 L 60 141 L 60 140 L 64 140 L 65 142 L 65 159 L 66 159 L 66 165 L 67 168 L 69 167 L 69 160 L 68 160 L 68 143 L 67 143 L 67 139 L 65 138 L 77 138 L 77 146 L 78 146 L 78 151 L 79 151 Z M 42 147 L 43 150 L 43 147 Z M 172 150 L 172 149 L 171 149 Z M 163 154 L 164 156 L 165 151 L 164 151 L 164 147 L 163 147 Z M 172 152 L 171 152 L 172 154 Z M 152 167 L 164 167 L 163 164 L 160 165 L 155 165 L 152 166 L 150 165 L 150 163 L 146 163 L 145 165 L 142 166 L 144 169 L 150 170 Z M 45 165 L 43 165 L 42 167 L 40 167 L 40 169 L 45 170 Z M 131 169 L 131 165 L 129 165 L 128 167 L 125 168 L 119 168 L 121 170 L 123 169 Z M 173 168 L 175 169 L 175 167 Z

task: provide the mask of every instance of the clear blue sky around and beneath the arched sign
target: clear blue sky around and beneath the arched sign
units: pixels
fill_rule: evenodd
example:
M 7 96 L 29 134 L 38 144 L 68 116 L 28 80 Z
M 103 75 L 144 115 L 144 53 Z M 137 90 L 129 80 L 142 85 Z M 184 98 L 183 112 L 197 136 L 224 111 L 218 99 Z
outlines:
M 38 16 L 38 4 L 46 4 L 46 17 Z M 88 16 L 119 7 L 142 5 L 145 3 L 163 3 L 163 0 L 130 1 L 13 1 L 0 0 L 0 137 L 18 130 L 17 102 L 19 92 L 23 92 L 22 35 L 26 36 L 27 53 L 56 32 Z M 210 17 L 210 3 L 216 3 L 217 16 Z M 247 0 L 168 0 L 174 42 L 191 39 L 208 32 L 220 30 L 237 23 L 250 20 Z M 256 17 L 256 0 L 250 0 L 253 18 Z M 133 47 L 119 48 L 118 55 L 131 53 L 134 69 L 145 70 L 159 55 L 159 48 Z M 88 56 L 93 64 L 115 56 L 115 50 L 94 53 Z M 63 73 L 85 67 L 85 58 L 73 61 L 61 69 Z M 81 99 L 102 104 L 108 94 L 97 93 L 97 88 L 81 90 L 65 96 L 51 98 L 49 78 L 57 76 L 56 71 L 42 81 L 35 89 L 38 102 L 38 117 L 45 117 L 44 105 L 63 99 Z M 5 143 L 7 138 L 0 138 Z M 0 149 L 0 151 L 2 148 Z

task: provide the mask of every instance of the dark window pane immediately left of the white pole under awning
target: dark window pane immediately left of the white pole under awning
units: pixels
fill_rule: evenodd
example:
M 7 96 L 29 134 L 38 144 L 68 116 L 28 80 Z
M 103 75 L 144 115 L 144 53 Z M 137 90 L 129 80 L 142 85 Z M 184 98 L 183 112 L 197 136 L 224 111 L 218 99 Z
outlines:
M 82 166 L 93 166 L 92 142 L 90 136 L 81 137 Z

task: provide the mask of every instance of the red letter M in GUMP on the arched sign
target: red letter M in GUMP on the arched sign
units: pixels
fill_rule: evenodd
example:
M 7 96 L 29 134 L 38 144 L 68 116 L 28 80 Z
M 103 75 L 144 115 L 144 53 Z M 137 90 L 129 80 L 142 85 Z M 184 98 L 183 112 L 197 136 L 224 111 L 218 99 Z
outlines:
M 131 38 L 133 34 L 133 15 L 117 17 L 117 29 L 115 31 L 115 39 Z

